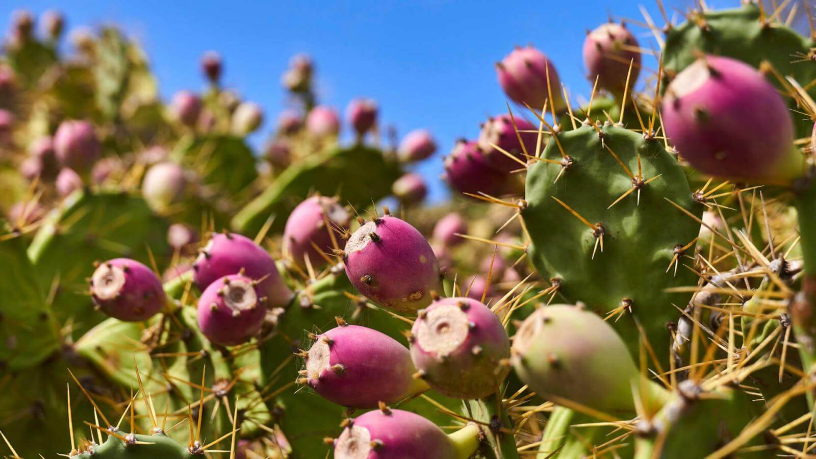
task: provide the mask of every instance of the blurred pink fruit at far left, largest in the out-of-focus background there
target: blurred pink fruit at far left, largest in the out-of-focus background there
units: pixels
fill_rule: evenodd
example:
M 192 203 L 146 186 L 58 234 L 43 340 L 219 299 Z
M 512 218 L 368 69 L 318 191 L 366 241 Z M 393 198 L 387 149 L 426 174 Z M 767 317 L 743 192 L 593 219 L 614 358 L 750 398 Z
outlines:
M 60 123 L 57 128 L 54 150 L 64 167 L 87 172 L 100 156 L 100 142 L 91 123 L 69 120 Z

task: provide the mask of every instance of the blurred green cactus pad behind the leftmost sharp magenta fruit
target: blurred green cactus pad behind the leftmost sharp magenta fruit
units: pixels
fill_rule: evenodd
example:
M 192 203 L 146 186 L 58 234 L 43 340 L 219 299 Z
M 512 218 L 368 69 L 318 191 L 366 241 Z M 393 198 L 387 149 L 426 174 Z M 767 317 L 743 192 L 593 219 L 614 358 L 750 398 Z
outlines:
M 75 333 L 100 323 L 105 315 L 94 310 L 87 294 L 94 261 L 125 256 L 150 265 L 149 251 L 157 258 L 169 252 L 167 226 L 141 198 L 128 194 L 78 190 L 65 198 L 28 251 L 44 292 L 59 280 L 54 314 L 60 323 L 73 319 Z

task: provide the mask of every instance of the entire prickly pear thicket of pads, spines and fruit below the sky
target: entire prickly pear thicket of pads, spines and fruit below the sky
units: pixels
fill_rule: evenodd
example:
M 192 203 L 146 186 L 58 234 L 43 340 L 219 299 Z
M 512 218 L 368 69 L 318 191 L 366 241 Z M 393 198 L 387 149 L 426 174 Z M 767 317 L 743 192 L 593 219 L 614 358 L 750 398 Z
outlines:
M 517 48 L 496 65 L 517 109 L 456 142 L 454 197 L 434 207 L 406 173 L 433 136 L 382 142 L 358 99 L 339 145 L 308 56 L 255 154 L 263 111 L 220 85 L 217 53 L 206 91 L 165 105 L 117 29 L 76 29 L 64 55 L 59 13 L 16 13 L 0 57 L 0 447 L 812 456 L 811 8 L 646 16 L 660 51 L 641 85 L 632 25 L 601 25 L 580 106 L 548 56 Z

